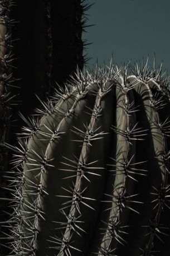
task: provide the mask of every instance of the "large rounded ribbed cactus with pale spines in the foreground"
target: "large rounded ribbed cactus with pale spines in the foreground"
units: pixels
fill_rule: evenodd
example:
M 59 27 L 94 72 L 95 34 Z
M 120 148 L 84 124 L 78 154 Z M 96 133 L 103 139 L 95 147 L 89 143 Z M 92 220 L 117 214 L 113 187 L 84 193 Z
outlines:
M 33 119 L 22 116 L 13 255 L 168 255 L 170 94 L 162 66 L 110 62 L 76 76 Z

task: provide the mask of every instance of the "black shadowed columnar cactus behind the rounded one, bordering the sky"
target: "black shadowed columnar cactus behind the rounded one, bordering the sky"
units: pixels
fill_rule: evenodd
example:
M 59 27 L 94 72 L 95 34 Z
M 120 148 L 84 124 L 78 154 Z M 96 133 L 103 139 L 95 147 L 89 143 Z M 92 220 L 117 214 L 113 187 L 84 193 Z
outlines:
M 84 0 L 17 1 L 12 8 L 12 17 L 20 21 L 12 29 L 13 37 L 20 38 L 13 49 L 17 57 L 13 74 L 21 78 L 16 83 L 21 87 L 18 110 L 24 115 L 32 114 L 39 104 L 35 94 L 44 100 L 57 83 L 62 85 L 74 74 L 77 65 L 82 70 L 86 41 L 81 34 L 88 8 Z

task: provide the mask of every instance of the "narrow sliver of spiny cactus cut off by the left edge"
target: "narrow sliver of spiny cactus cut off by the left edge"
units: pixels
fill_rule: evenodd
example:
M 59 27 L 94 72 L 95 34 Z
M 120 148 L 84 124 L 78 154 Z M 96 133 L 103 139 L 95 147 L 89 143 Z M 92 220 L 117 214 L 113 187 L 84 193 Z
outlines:
M 4 175 L 9 168 L 9 150 L 4 147 L 5 143 L 11 143 L 11 128 L 13 126 L 12 108 L 14 107 L 14 94 L 13 94 L 13 82 L 16 80 L 13 78 L 13 54 L 12 46 L 14 39 L 12 40 L 11 29 L 15 21 L 11 18 L 11 7 L 13 1 L 1 0 L 0 1 L 0 218 L 1 221 L 8 219 L 6 213 L 8 205 L 7 199 L 9 193 L 2 187 L 9 185 Z M 14 108 L 13 108 L 14 109 Z M 2 231 L 6 232 L 6 227 L 1 226 Z M 0 254 L 4 253 L 4 248 L 0 248 Z

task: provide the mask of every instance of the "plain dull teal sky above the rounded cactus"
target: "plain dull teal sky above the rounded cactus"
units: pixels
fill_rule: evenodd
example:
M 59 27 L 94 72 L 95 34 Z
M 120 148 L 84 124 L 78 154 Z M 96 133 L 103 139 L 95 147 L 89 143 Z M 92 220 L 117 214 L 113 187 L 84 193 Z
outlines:
M 144 61 L 149 54 L 153 65 L 163 61 L 163 70 L 170 75 L 170 1 L 169 0 L 87 0 L 94 3 L 86 12 L 89 21 L 82 35 L 88 43 L 84 54 L 91 58 L 86 66 L 109 63 L 111 54 L 115 63 Z

